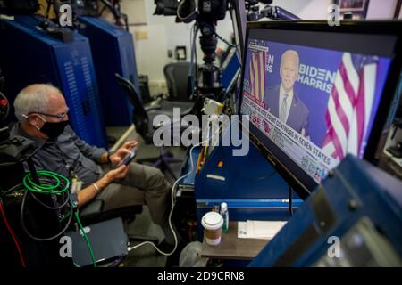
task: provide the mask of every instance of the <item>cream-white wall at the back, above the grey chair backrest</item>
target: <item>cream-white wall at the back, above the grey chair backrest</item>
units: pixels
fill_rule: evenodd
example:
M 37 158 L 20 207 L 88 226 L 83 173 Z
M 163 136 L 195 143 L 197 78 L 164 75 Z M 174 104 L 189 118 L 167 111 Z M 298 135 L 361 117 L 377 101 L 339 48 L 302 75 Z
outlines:
M 130 23 L 138 23 L 130 27 L 135 38 L 138 72 L 148 75 L 154 93 L 161 91 L 158 88 L 164 88 L 163 66 L 174 61 L 168 58 L 168 50 L 174 52 L 177 45 L 185 45 L 189 59 L 190 29 L 193 23 L 175 23 L 174 16 L 153 15 L 155 4 L 149 0 L 123 0 L 121 10 L 129 15 Z M 232 26 L 229 14 L 218 22 L 217 32 L 224 38 L 230 38 Z M 197 61 L 202 62 L 202 52 L 199 45 L 197 47 Z

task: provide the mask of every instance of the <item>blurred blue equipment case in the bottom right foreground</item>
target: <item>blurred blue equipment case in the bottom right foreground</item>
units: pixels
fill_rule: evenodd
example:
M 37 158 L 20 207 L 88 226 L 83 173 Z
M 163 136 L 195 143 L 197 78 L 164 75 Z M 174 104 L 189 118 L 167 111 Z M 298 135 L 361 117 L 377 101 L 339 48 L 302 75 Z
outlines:
M 349 155 L 250 266 L 402 266 L 401 190 Z

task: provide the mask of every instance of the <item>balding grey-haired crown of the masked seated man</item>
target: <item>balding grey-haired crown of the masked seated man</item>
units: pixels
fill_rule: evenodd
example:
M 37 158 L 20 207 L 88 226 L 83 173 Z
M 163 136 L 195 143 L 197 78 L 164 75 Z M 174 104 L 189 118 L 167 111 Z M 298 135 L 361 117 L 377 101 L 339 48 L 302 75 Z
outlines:
M 65 100 L 59 89 L 53 85 L 34 84 L 21 90 L 14 101 L 15 117 L 20 122 L 26 120 L 29 113 L 40 112 L 57 114 L 65 109 Z

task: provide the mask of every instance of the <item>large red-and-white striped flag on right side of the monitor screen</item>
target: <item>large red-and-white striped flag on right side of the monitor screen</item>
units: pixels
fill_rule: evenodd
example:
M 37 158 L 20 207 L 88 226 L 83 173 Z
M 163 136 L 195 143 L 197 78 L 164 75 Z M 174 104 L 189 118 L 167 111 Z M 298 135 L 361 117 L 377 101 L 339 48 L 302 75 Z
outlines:
M 361 154 L 373 107 L 377 57 L 343 53 L 325 115 L 323 151 L 335 159 Z

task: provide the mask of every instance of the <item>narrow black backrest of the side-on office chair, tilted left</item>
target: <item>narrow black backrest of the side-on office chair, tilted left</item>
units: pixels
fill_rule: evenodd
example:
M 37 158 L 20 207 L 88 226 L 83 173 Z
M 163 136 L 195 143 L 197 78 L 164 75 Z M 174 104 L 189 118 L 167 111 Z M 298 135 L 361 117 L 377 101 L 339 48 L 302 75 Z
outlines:
M 117 83 L 121 85 L 124 93 L 127 95 L 130 103 L 133 106 L 132 122 L 136 126 L 136 131 L 143 137 L 148 134 L 148 114 L 145 110 L 141 98 L 136 90 L 135 86 L 127 78 L 121 77 L 120 74 L 116 73 Z

